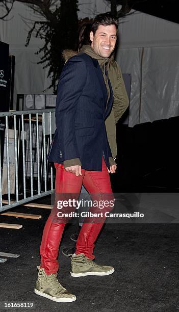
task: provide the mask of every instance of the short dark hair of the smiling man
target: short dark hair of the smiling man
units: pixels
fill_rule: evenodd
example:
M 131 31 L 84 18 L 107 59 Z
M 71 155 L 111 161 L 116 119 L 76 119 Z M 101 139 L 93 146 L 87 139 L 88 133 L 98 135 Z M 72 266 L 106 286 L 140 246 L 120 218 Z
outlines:
M 91 25 L 91 31 L 93 32 L 93 34 L 95 34 L 95 32 L 97 31 L 99 25 L 115 25 L 118 32 L 118 18 L 114 17 L 110 13 L 96 15 Z

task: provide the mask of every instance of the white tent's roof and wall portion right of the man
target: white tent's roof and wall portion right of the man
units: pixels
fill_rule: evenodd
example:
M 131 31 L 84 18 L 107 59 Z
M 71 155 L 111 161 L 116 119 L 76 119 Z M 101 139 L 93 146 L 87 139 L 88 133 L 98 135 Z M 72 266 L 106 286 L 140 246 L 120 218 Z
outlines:
M 129 125 L 179 115 L 179 24 L 136 12 L 119 25 L 117 61 L 131 73 Z

